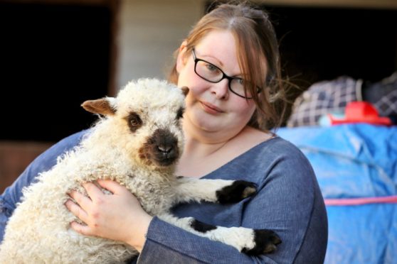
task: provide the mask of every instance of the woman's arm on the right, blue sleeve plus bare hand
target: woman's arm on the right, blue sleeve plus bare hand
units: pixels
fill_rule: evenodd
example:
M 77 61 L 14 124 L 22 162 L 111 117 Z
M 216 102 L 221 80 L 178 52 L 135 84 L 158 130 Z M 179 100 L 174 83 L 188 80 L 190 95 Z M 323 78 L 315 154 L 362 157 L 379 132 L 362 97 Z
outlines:
M 245 255 L 231 246 L 196 236 L 157 217 L 145 219 L 142 216 L 146 213 L 136 198 L 117 183 L 114 183 L 118 186 L 116 189 L 110 189 L 114 195 L 88 190 L 91 199 L 83 201 L 80 199 L 83 197 L 78 198 L 80 207 L 68 202 L 69 208 L 74 207 L 73 213 L 83 215 L 82 220 L 88 224 L 88 227 L 73 224 L 73 229 L 124 241 L 139 251 L 142 248 L 138 263 L 293 263 L 298 254 L 305 254 L 300 259 L 307 263 L 320 263 L 321 259 L 324 260 L 327 242 L 327 217 L 324 204 L 317 203 L 322 201 L 317 182 L 302 153 L 295 148 L 289 149 L 288 145 L 281 147 L 287 147 L 287 150 L 282 150 L 282 153 L 272 150 L 270 153 L 274 157 L 265 155 L 258 158 L 262 153 L 254 153 L 258 162 L 251 165 L 255 169 L 246 166 L 247 160 L 253 160 L 253 157 L 228 168 L 229 173 L 233 171 L 235 175 L 245 175 L 245 180 L 258 183 L 259 192 L 255 197 L 227 206 L 206 203 L 189 205 L 192 211 L 198 212 L 191 216 L 198 216 L 196 219 L 208 221 L 208 224 L 272 229 L 282 240 L 275 253 L 257 257 Z M 223 175 L 222 171 L 220 173 Z M 107 188 L 103 182 L 100 181 L 100 185 Z M 95 185 L 89 186 L 97 188 Z M 121 197 L 114 197 L 115 194 Z M 80 194 L 73 192 L 71 195 L 76 198 L 75 195 Z M 123 202 L 114 202 L 117 199 Z M 320 214 L 313 216 L 314 211 Z M 313 226 L 312 223 L 317 221 L 322 221 L 322 224 Z M 313 233 L 318 239 L 312 236 Z M 303 244 L 312 246 L 303 250 Z

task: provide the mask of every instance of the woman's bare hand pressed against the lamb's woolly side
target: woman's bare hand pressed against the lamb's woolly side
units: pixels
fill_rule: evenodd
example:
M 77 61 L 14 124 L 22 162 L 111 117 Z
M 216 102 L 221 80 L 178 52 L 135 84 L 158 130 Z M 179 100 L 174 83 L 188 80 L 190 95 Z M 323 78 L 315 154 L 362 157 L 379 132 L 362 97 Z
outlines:
M 73 221 L 70 226 L 86 236 L 100 236 L 128 243 L 141 251 L 145 234 L 152 216 L 149 216 L 134 195 L 126 187 L 112 180 L 97 180 L 97 183 L 112 192 L 104 194 L 92 182 L 83 184 L 89 197 L 80 192 L 70 192 L 72 200 L 66 207 L 86 225 Z

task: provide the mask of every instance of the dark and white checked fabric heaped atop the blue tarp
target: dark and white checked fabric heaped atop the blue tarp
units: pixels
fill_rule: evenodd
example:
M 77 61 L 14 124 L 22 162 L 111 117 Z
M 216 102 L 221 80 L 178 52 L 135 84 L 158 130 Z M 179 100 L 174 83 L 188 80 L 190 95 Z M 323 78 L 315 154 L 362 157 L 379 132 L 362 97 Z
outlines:
M 295 100 L 287 126 L 318 126 L 325 114 L 344 114 L 346 104 L 363 100 L 373 104 L 379 116 L 388 116 L 396 123 L 397 72 L 367 85 L 347 76 L 312 84 Z

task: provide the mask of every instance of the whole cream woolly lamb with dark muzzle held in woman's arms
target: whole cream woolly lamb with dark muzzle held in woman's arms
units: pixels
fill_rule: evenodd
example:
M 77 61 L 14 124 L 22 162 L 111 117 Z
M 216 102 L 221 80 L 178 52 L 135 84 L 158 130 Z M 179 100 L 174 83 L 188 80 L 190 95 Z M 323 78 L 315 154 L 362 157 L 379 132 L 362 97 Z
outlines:
M 170 208 L 179 202 L 237 202 L 255 193 L 242 180 L 200 180 L 176 177 L 183 150 L 181 117 L 189 92 L 158 79 L 129 82 L 116 98 L 85 101 L 83 108 L 102 117 L 80 144 L 38 175 L 23 190 L 6 226 L 0 263 L 123 263 L 137 254 L 120 241 L 88 237 L 70 229 L 75 216 L 65 208 L 72 189 L 85 192 L 83 182 L 110 178 L 125 185 L 151 215 L 258 255 L 270 253 L 280 238 L 270 230 L 217 227 L 191 217 L 178 219 Z M 225 236 L 233 233 L 238 241 Z

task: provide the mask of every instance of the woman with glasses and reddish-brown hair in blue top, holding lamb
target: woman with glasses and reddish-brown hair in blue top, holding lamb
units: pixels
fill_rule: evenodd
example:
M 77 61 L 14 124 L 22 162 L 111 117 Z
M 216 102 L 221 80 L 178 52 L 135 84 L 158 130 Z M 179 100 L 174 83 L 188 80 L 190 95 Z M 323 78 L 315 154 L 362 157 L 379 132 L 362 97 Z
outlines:
M 196 236 L 149 216 L 125 187 L 110 180 L 92 183 L 90 197 L 70 193 L 66 203 L 85 224 L 71 227 L 88 236 L 129 243 L 139 263 L 322 263 L 327 247 L 327 214 L 317 180 L 295 146 L 270 133 L 280 123 L 282 95 L 277 41 L 268 16 L 245 5 L 223 4 L 204 16 L 176 51 L 169 77 L 190 89 L 183 128 L 184 153 L 178 175 L 243 179 L 258 194 L 231 205 L 180 204 L 177 216 L 194 216 L 217 226 L 272 229 L 282 243 L 275 253 L 250 257 L 222 243 Z M 276 107 L 277 105 L 277 107 Z M 81 133 L 66 138 L 36 159 L 1 197 L 6 221 L 23 185 L 73 147 Z M 136 260 L 135 260 L 136 261 Z

